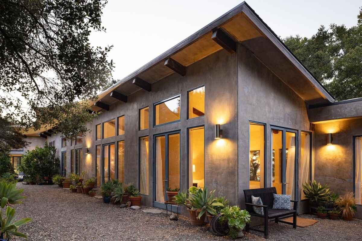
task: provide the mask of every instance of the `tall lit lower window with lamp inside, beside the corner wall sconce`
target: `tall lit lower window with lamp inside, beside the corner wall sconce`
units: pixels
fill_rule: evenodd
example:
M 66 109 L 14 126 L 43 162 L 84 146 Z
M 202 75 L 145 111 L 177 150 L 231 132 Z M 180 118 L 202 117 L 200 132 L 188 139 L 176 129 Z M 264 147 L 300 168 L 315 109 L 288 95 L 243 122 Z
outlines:
M 205 187 L 204 127 L 189 129 L 189 186 Z

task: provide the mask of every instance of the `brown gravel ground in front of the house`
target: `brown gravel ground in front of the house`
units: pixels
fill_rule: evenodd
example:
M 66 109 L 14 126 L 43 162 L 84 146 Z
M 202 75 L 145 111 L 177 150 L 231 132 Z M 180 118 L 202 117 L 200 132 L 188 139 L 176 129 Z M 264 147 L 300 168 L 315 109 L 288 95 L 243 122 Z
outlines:
M 120 209 L 101 199 L 71 193 L 55 185 L 22 185 L 27 197 L 16 206 L 17 219 L 33 221 L 20 227 L 29 240 L 37 241 L 133 241 L 133 240 L 228 240 L 212 235 L 209 228 L 195 227 L 179 216 L 170 221 L 165 214 L 146 214 L 141 210 Z M 150 207 L 142 206 L 142 209 Z M 314 216 L 307 216 L 313 218 Z M 362 220 L 321 220 L 307 228 L 269 223 L 269 240 L 361 240 Z M 246 234 L 240 240 L 261 241 L 261 233 Z M 16 240 L 21 240 L 16 239 Z

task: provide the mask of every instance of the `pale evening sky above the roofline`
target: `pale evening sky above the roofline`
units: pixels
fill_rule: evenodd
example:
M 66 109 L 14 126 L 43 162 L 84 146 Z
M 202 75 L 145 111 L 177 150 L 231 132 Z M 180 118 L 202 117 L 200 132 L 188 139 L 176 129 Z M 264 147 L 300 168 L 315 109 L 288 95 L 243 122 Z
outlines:
M 92 32 L 93 46 L 113 45 L 109 60 L 114 79 L 122 79 L 167 51 L 222 14 L 240 4 L 237 0 L 109 0 L 103 10 L 106 32 Z M 260 1 L 247 3 L 281 38 L 311 37 L 320 25 L 351 27 L 357 24 L 361 0 Z

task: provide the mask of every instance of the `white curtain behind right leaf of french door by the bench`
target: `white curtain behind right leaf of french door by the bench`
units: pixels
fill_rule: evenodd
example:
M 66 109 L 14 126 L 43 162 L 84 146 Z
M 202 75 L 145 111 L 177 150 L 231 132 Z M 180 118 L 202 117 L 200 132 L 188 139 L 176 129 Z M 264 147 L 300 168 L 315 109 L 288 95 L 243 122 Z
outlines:
M 294 164 L 295 164 L 295 145 L 294 136 L 290 137 L 289 147 L 288 147 L 288 157 L 287 157 L 287 168 L 286 168 L 286 194 L 291 195 L 291 199 L 294 200 L 295 190 L 294 190 Z

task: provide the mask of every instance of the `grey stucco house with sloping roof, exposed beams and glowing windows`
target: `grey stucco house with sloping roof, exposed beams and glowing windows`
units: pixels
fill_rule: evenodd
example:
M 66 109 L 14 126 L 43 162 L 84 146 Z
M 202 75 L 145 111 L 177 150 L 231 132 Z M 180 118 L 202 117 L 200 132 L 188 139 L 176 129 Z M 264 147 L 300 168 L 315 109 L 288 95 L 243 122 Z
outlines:
M 273 186 L 303 213 L 314 179 L 361 200 L 361 103 L 335 102 L 243 2 L 102 92 L 87 135 L 27 134 L 57 148 L 63 174 L 133 183 L 144 205 L 192 185 L 242 205 Z

